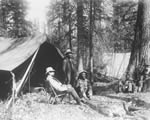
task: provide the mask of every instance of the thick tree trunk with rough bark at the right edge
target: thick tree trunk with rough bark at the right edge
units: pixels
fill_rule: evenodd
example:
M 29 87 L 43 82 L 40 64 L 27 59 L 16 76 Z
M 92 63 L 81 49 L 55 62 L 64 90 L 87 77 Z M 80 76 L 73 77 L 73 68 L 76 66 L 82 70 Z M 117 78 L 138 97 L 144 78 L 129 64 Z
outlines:
M 150 59 L 148 51 L 150 41 L 150 0 L 139 0 L 137 21 L 135 27 L 135 38 L 127 72 L 134 77 L 136 66 L 148 64 Z

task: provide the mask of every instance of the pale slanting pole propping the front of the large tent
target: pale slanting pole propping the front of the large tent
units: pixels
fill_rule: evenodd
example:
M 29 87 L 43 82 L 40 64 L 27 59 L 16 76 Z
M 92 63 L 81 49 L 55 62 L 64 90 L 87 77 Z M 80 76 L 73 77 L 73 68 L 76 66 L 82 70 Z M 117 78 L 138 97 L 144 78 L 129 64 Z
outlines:
M 27 82 L 26 76 L 28 75 L 28 72 L 29 72 L 29 70 L 31 69 L 31 66 L 32 66 L 32 64 L 33 64 L 33 62 L 34 62 L 34 60 L 35 60 L 35 58 L 36 58 L 36 55 L 37 55 L 38 51 L 39 51 L 39 48 L 36 50 L 36 52 L 35 52 L 34 56 L 32 57 L 32 60 L 31 60 L 31 62 L 30 62 L 30 64 L 29 64 L 29 66 L 28 66 L 28 68 L 27 68 L 27 70 L 26 70 L 26 72 L 25 72 L 25 74 L 24 74 L 24 76 L 23 76 L 23 78 L 22 78 L 20 84 L 19 84 L 18 87 L 16 88 L 15 97 L 18 96 L 18 94 L 19 94 L 21 88 L 23 87 L 23 84 Z M 7 109 L 11 106 L 12 102 L 13 102 L 13 97 L 11 97 L 10 100 L 8 101 L 8 104 L 7 104 L 7 106 L 6 106 Z

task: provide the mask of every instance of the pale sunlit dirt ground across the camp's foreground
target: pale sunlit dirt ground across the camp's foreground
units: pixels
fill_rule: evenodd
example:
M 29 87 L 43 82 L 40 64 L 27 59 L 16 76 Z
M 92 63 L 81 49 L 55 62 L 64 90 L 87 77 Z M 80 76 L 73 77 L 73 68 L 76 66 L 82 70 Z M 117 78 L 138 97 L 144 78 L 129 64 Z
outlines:
M 85 105 L 49 104 L 43 93 L 21 96 L 6 110 L 0 104 L 0 120 L 150 120 L 150 93 L 93 96 Z

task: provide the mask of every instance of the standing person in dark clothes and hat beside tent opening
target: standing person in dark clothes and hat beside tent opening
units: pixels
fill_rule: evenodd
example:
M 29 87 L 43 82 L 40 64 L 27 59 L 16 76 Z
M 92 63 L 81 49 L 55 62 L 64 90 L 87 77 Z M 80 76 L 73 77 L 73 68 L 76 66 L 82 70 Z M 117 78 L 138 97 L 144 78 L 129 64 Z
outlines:
M 71 84 L 75 87 L 76 70 L 72 59 L 72 51 L 67 49 L 63 60 L 63 71 L 65 73 L 65 84 Z

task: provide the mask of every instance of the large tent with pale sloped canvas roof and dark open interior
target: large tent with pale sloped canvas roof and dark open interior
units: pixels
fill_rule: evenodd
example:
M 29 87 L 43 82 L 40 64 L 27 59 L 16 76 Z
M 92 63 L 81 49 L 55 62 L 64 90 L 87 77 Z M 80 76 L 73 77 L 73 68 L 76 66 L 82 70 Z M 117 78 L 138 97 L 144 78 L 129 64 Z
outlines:
M 1 44 L 2 43 L 2 44 Z M 5 46 L 5 47 L 4 47 Z M 52 66 L 56 70 L 56 77 L 60 81 L 64 80 L 62 70 L 63 55 L 60 51 L 47 42 L 46 35 L 22 39 L 0 38 L 0 97 L 8 95 L 11 90 L 11 74 L 15 74 L 16 80 L 20 80 L 24 75 L 31 59 L 38 50 L 34 65 L 29 72 L 30 84 L 39 86 L 45 78 L 45 68 Z

